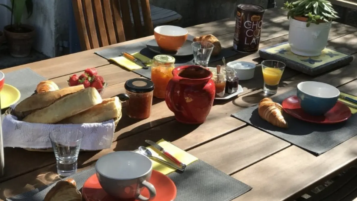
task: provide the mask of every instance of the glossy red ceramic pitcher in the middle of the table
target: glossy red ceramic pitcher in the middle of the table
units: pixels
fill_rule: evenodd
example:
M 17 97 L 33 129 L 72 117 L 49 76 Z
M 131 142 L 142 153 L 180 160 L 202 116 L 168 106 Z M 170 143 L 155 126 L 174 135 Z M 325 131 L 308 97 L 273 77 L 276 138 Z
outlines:
M 186 65 L 175 68 L 172 74 L 166 88 L 167 107 L 179 122 L 205 122 L 216 93 L 212 72 L 198 65 Z

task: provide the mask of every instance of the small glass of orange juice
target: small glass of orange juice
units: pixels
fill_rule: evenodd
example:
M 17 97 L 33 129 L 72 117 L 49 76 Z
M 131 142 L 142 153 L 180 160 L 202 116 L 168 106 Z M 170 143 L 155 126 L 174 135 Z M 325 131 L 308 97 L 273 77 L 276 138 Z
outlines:
M 265 94 L 276 94 L 281 76 L 285 69 L 285 63 L 276 60 L 265 60 L 262 62 Z

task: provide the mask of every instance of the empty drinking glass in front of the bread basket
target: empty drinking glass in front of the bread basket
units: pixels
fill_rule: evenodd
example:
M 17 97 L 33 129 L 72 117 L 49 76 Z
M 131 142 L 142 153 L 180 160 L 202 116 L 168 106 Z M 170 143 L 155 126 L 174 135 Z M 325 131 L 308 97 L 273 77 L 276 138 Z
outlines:
M 57 173 L 67 177 L 77 172 L 77 159 L 83 134 L 80 131 L 52 131 L 50 139 L 57 161 Z

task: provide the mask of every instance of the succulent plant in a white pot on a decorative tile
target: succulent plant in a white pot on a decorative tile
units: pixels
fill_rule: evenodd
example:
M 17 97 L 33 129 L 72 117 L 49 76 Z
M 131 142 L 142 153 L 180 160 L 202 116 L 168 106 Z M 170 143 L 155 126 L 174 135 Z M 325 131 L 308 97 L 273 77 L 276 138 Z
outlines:
M 326 47 L 332 20 L 337 12 L 327 0 L 297 0 L 284 4 L 290 19 L 289 44 L 292 53 L 316 57 Z

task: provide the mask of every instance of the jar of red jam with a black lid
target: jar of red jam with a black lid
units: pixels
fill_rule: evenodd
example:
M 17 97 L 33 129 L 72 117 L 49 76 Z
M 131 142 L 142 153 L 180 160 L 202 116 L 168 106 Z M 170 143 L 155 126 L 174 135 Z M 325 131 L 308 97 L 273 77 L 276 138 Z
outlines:
M 144 78 L 134 78 L 125 82 L 124 88 L 129 96 L 126 112 L 130 118 L 150 117 L 154 83 Z

